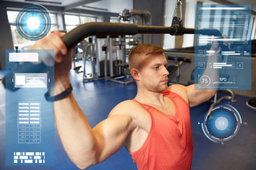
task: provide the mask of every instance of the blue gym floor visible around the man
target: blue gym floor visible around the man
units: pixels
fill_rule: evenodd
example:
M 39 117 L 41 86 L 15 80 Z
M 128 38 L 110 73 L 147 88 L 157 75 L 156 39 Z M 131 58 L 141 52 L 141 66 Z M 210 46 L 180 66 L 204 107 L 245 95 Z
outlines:
M 0 70 L 0 79 L 5 72 Z M 97 81 L 82 82 L 82 73 L 70 72 L 71 84 L 73 85 L 73 95 L 80 108 L 84 111 L 90 125 L 94 127 L 101 120 L 107 118 L 111 109 L 117 103 L 132 99 L 137 93 L 136 84 L 124 86 L 112 81 L 98 79 Z M 218 96 L 228 95 L 220 93 Z M 55 166 L 5 166 L 5 90 L 0 85 L 0 169 L 78 169 L 65 153 L 58 133 L 55 131 Z M 242 125 L 238 135 L 224 145 L 212 142 L 203 134 L 201 120 L 206 115 L 210 107 L 210 101 L 202 103 L 200 106 L 191 108 L 191 125 L 193 132 L 193 162 L 191 169 L 255 169 L 256 167 L 256 111 L 245 105 L 250 98 L 245 96 L 235 96 L 234 106 L 242 117 Z M 122 147 L 116 154 L 101 164 L 97 164 L 88 169 L 137 169 L 132 162 L 132 157 L 127 150 Z

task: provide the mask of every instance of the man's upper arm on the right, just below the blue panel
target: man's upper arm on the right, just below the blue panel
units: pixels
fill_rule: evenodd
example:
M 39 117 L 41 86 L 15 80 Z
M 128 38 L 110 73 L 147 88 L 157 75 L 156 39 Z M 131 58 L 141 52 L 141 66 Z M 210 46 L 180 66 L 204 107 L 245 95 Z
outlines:
M 199 104 L 208 101 L 216 93 L 216 90 L 197 90 L 195 89 L 195 84 L 186 86 L 186 91 L 190 107 L 198 106 Z

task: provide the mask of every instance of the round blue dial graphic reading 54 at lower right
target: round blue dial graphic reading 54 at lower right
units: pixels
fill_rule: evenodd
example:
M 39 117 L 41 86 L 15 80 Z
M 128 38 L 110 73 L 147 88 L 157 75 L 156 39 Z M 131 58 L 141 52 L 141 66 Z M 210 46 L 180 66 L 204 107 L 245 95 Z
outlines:
M 226 142 L 238 133 L 242 119 L 238 111 L 228 104 L 215 106 L 210 115 L 206 115 L 202 129 L 206 137 L 213 142 Z

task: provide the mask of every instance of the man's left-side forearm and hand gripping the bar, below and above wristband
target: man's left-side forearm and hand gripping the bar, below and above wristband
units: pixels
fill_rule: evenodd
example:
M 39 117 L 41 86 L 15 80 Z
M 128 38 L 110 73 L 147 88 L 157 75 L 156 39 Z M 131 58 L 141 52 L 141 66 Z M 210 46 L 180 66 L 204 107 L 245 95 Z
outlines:
M 55 85 L 50 86 L 50 96 L 61 94 L 70 85 L 69 72 L 73 60 L 73 50 L 68 50 L 61 40 L 63 33 L 54 31 L 31 45 L 31 50 L 54 50 L 54 56 L 41 56 L 47 65 L 48 57 L 55 60 Z M 85 168 L 97 161 L 98 144 L 85 115 L 75 98 L 69 94 L 53 103 L 55 124 L 60 140 L 70 159 L 79 167 Z

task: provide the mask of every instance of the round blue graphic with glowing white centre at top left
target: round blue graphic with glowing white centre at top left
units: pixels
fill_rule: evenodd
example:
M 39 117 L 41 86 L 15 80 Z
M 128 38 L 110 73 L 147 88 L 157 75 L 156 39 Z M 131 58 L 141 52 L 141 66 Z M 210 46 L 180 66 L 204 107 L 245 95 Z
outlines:
M 23 38 L 39 40 L 50 30 L 50 12 L 38 4 L 26 6 L 18 13 L 16 28 Z

